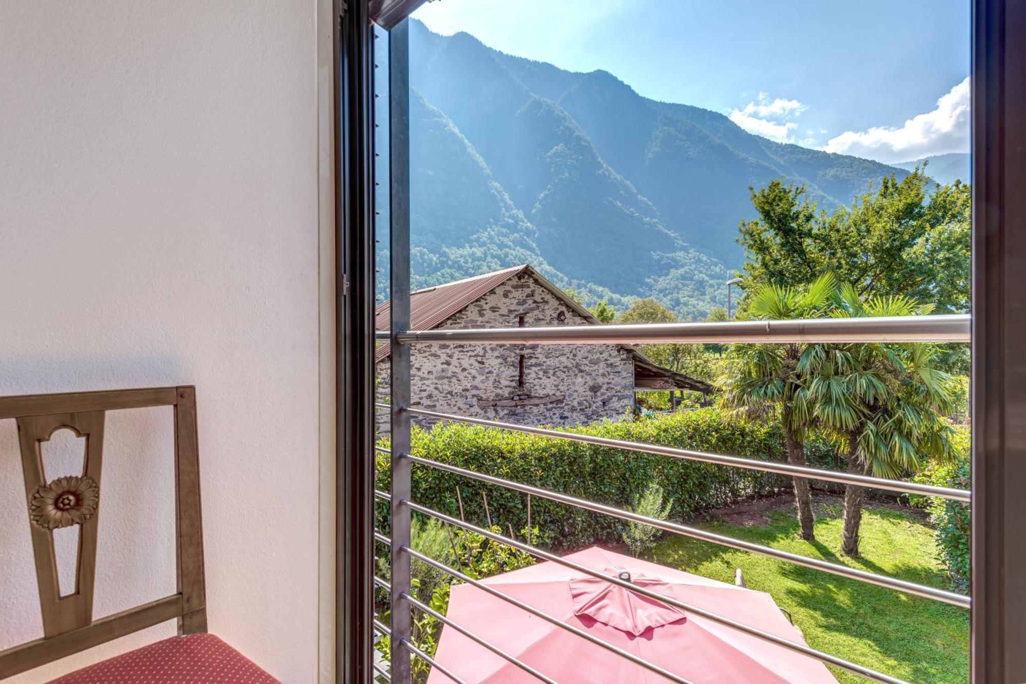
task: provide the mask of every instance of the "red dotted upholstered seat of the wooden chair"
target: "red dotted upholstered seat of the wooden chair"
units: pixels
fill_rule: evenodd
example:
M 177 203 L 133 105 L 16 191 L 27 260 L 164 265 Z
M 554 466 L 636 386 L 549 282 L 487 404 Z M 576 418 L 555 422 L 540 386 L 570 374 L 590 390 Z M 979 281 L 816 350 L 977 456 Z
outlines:
M 280 684 L 212 634 L 171 637 L 136 648 L 50 684 Z

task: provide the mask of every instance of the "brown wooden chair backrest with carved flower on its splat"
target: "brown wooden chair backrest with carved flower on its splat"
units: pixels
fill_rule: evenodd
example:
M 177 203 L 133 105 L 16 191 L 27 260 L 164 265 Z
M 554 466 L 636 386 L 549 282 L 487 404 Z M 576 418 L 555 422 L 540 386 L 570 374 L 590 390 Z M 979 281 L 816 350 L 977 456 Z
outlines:
M 174 500 L 177 593 L 101 619 L 92 619 L 96 523 L 106 412 L 147 407 L 174 410 Z M 177 618 L 179 634 L 206 631 L 203 529 L 200 518 L 196 388 L 157 387 L 0 397 L 0 419 L 17 421 L 22 470 L 35 554 L 43 637 L 0 651 L 0 679 Z M 47 481 L 41 442 L 70 428 L 85 438 L 79 476 Z M 116 515 L 105 511 L 105 515 Z M 80 525 L 75 593 L 61 595 L 53 529 Z

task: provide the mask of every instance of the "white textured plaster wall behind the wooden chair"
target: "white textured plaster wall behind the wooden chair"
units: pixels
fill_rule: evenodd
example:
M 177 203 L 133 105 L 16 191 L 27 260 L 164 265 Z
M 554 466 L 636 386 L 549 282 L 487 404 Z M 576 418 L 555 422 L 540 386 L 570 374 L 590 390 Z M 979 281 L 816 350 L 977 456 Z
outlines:
M 289 683 L 317 677 L 315 10 L 0 3 L 0 394 L 195 384 L 210 629 Z M 108 422 L 97 616 L 174 588 L 169 410 Z M 23 487 L 0 421 L 0 649 L 41 636 Z

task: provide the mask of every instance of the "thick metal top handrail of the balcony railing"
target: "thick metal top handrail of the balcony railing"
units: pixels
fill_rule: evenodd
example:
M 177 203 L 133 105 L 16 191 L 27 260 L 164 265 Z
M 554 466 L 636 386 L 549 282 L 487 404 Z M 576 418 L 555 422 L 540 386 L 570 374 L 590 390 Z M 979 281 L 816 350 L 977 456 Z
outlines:
M 969 342 L 968 313 L 805 318 L 796 320 L 724 320 L 630 326 L 555 326 L 411 330 L 398 333 L 404 344 L 462 342 L 488 344 L 669 344 L 774 342 Z

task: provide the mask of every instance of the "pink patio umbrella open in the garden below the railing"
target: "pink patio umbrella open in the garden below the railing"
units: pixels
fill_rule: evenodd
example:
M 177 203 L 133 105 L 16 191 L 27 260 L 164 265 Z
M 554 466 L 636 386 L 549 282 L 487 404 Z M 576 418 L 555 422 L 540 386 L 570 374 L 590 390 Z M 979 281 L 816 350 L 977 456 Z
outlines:
M 708 580 L 592 547 L 566 556 L 611 576 L 803 644 L 764 592 Z M 836 683 L 815 658 L 554 562 L 482 581 L 695 684 Z M 447 616 L 559 684 L 668 682 L 665 677 L 471 585 L 456 585 Z M 447 627 L 435 659 L 468 683 L 538 680 Z M 428 684 L 450 680 L 432 671 Z

